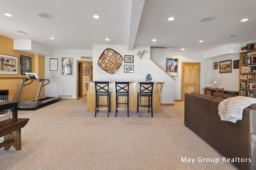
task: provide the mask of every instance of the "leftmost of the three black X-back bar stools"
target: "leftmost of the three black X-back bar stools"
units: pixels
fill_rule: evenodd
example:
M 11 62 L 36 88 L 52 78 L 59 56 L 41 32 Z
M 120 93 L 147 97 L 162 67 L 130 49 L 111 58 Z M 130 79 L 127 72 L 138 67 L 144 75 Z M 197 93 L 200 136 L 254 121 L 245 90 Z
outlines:
M 102 109 L 107 109 L 110 113 L 110 91 L 109 91 L 109 82 L 95 82 L 95 117 L 97 112 Z M 107 97 L 106 104 L 99 104 L 99 97 Z M 109 116 L 109 114 L 108 114 Z

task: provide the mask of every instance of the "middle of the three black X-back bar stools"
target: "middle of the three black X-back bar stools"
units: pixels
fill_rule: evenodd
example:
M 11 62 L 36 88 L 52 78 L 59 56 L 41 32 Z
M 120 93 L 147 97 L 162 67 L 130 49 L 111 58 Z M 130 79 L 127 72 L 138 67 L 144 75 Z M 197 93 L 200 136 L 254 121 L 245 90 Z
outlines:
M 127 102 L 118 103 L 118 97 L 127 97 Z M 118 105 L 126 105 L 127 107 L 118 108 Z M 127 110 L 129 117 L 129 82 L 116 82 L 116 113 L 117 110 Z

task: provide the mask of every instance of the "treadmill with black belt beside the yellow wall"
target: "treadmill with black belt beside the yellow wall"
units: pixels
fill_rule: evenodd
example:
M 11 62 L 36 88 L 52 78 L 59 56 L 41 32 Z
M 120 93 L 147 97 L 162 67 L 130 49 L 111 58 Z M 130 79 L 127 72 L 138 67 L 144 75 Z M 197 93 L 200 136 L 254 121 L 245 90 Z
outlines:
M 28 78 L 24 78 L 22 80 L 22 84 L 20 85 L 20 90 L 18 92 L 18 96 L 16 98 L 16 101 L 19 101 L 20 94 L 22 92 L 23 87 L 33 83 L 33 80 L 38 80 L 38 82 L 40 82 L 40 86 L 39 86 L 39 89 L 38 89 L 36 99 L 29 100 L 29 101 L 18 102 L 18 109 L 34 109 L 38 106 L 42 106 L 44 104 L 57 101 L 59 99 L 58 97 L 42 97 L 42 98 L 40 98 L 40 93 L 41 93 L 42 87 L 49 84 L 50 80 L 49 79 L 40 79 L 40 78 L 38 78 L 38 75 L 34 72 L 32 72 L 32 73 L 31 72 L 25 72 L 25 74 L 27 75 Z M 30 82 L 28 82 L 28 81 L 30 81 Z M 45 81 L 47 81 L 46 84 L 44 84 Z M 25 84 L 25 82 L 28 82 L 28 83 Z

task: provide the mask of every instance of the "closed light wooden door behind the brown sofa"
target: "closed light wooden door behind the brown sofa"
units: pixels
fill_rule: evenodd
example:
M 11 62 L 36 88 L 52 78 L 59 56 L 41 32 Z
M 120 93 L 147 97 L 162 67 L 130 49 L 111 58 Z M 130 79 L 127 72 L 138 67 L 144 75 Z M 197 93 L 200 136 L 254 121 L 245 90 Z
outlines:
M 181 101 L 184 101 L 184 94 L 200 92 L 200 68 L 201 63 L 181 63 Z

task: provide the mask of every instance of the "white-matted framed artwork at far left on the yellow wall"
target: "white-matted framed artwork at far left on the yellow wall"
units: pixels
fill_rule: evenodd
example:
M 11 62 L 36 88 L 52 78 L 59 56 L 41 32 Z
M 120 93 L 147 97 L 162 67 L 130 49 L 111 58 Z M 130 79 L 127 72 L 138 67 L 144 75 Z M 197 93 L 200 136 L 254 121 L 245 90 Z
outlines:
M 0 74 L 18 74 L 18 57 L 0 54 Z

